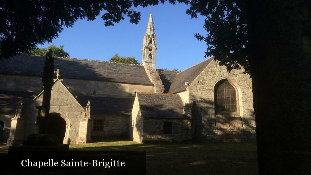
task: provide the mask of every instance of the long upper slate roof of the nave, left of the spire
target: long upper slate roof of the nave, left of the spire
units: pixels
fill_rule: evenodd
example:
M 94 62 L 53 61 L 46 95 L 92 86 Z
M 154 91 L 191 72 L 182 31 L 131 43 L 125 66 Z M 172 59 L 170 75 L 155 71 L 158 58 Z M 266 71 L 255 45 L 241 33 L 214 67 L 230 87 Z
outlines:
M 42 77 L 44 61 L 45 56 L 20 54 L 20 56 L 2 61 L 0 74 Z M 142 65 L 55 57 L 55 71 L 58 68 L 63 72 L 61 78 L 152 85 Z

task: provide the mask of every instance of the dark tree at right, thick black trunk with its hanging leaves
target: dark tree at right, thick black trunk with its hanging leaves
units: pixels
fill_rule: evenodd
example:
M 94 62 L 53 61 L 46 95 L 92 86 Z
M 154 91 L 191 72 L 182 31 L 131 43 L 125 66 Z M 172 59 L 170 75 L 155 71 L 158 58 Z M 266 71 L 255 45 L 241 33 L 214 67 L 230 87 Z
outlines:
M 311 168 L 311 1 L 195 0 L 206 56 L 252 77 L 260 174 Z

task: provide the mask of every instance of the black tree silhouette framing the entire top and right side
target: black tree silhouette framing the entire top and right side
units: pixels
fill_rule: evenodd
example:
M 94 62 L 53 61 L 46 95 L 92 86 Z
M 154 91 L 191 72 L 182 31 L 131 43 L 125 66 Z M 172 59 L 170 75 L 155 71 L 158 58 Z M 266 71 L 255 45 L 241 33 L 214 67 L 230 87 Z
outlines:
M 0 5 L 0 59 L 29 53 L 80 18 L 103 9 L 106 26 L 165 0 L 5 1 Z M 309 174 L 311 148 L 311 1 L 169 0 L 206 17 L 206 56 L 228 70 L 243 66 L 253 81 L 260 174 Z M 5 17 L 5 18 L 4 18 Z M 27 35 L 25 35 L 27 34 Z

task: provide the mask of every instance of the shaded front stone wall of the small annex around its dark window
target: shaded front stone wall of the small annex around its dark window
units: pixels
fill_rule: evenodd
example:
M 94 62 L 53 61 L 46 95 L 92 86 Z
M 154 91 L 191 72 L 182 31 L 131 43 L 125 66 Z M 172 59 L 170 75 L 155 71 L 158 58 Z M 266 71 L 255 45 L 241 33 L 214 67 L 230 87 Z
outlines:
M 191 142 L 191 119 L 143 118 L 143 143 Z M 172 134 L 163 134 L 164 122 L 172 122 Z

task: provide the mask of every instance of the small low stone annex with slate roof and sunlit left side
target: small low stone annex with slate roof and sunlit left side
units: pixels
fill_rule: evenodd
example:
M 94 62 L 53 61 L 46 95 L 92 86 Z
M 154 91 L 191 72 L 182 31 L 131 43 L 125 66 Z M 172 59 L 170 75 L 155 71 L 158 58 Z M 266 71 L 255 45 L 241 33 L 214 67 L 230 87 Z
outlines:
M 190 142 L 191 116 L 183 109 L 179 95 L 137 93 L 130 138 L 139 143 Z

